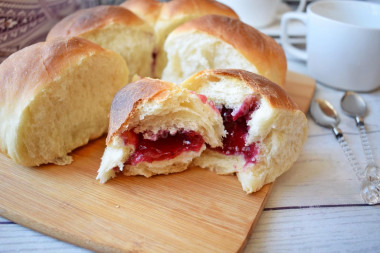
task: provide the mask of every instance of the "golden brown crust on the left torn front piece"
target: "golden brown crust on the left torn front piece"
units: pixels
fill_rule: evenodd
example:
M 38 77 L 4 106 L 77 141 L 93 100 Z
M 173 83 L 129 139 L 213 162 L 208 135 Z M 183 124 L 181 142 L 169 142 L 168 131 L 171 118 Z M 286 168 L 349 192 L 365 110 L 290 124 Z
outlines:
M 143 78 L 124 86 L 112 101 L 107 145 L 119 134 L 123 126 L 128 124 L 139 104 L 157 98 L 172 87 L 171 83 L 152 78 Z

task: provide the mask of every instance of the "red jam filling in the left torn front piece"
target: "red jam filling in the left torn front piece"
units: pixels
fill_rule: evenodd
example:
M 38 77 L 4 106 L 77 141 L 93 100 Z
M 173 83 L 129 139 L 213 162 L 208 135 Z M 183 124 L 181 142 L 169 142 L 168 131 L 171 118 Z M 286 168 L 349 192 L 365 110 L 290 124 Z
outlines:
M 135 146 L 135 152 L 126 162 L 131 165 L 173 159 L 182 152 L 198 152 L 204 144 L 202 136 L 194 131 L 179 131 L 173 135 L 168 131 L 160 131 L 156 135 L 126 131 L 121 137 L 125 144 Z

